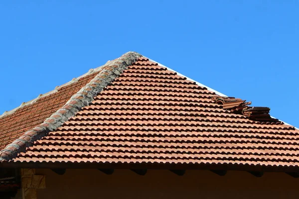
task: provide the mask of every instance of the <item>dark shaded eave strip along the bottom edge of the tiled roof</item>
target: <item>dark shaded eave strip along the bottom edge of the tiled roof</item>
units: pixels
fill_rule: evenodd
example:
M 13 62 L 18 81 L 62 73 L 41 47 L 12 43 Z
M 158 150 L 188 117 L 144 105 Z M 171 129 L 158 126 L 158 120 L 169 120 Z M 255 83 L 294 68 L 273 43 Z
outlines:
M 1 162 L 0 168 L 35 168 L 35 169 L 165 169 L 165 170 L 231 170 L 231 171 L 255 171 L 255 172 L 288 172 L 298 173 L 298 167 L 290 166 L 265 166 L 254 164 L 227 164 L 227 163 L 212 163 L 203 161 L 202 163 L 175 163 L 161 162 L 160 164 L 152 164 L 148 162 L 123 162 L 119 160 L 116 163 L 109 162 Z

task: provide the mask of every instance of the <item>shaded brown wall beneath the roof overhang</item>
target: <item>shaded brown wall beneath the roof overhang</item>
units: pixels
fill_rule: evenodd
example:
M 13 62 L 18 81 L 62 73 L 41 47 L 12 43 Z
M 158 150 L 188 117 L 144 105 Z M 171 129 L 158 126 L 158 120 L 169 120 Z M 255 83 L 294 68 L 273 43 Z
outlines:
M 106 175 L 96 169 L 68 169 L 60 176 L 37 169 L 36 175 L 46 176 L 46 189 L 37 190 L 38 199 L 299 198 L 299 179 L 285 173 L 265 173 L 257 178 L 237 171 L 218 176 L 188 170 L 177 176 L 167 170 L 149 170 L 139 176 L 130 170 Z

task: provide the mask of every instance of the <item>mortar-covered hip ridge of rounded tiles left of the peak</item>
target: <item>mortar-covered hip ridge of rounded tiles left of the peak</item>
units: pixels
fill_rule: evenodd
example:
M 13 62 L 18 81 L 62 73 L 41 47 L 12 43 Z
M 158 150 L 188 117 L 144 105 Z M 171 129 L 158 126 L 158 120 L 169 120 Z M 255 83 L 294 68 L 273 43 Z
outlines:
M 33 142 L 44 137 L 49 132 L 60 127 L 65 121 L 74 116 L 82 107 L 94 100 L 103 89 L 117 78 L 128 66 L 132 65 L 142 55 L 136 52 L 127 52 L 121 57 L 108 61 L 100 67 L 99 74 L 87 85 L 74 94 L 64 106 L 58 109 L 45 121 L 31 130 L 26 131 L 18 139 L 8 144 L 0 151 L 0 161 L 8 161 L 18 153 L 25 151 Z

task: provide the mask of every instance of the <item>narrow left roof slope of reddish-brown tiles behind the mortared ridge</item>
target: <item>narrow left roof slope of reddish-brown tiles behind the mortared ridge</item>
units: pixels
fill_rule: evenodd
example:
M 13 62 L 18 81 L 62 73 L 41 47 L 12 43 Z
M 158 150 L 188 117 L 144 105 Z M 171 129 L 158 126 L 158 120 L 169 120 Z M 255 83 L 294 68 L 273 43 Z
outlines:
M 0 117 L 0 150 L 13 142 L 24 132 L 42 123 L 62 107 L 72 95 L 77 93 L 97 73 L 87 75 L 71 84 L 60 87 L 57 92 L 40 97 L 35 102 L 18 108 L 11 114 Z

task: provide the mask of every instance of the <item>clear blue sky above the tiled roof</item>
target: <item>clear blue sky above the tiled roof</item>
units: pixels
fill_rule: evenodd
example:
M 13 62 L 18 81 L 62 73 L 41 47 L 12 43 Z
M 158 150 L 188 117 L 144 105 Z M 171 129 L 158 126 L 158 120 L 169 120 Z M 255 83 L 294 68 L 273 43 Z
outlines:
M 136 51 L 299 127 L 298 0 L 1 1 L 0 30 L 1 113 Z

